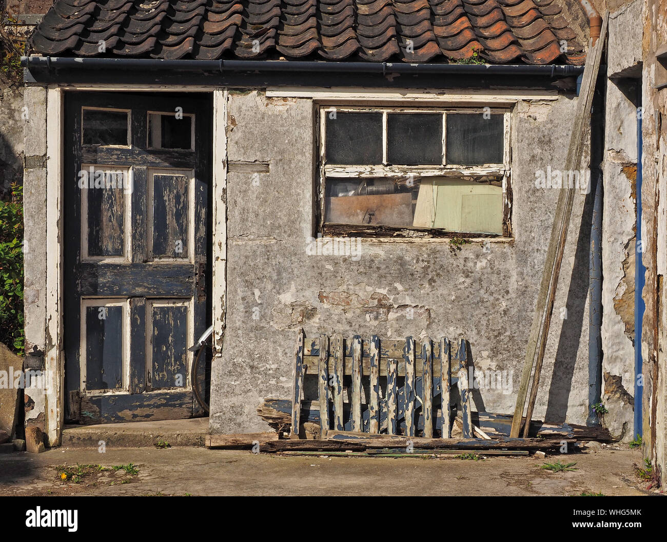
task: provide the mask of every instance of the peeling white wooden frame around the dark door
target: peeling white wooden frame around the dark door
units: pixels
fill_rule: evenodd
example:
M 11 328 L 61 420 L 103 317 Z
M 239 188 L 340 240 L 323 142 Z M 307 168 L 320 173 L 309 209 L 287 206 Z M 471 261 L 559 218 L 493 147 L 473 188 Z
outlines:
M 65 352 L 63 320 L 63 178 L 65 92 L 67 91 L 142 91 L 147 93 L 206 92 L 213 95 L 212 194 L 211 202 L 211 320 L 216 355 L 222 346 L 226 318 L 227 273 L 227 89 L 213 86 L 165 85 L 57 85 L 47 87 L 46 134 L 46 321 L 47 337 L 53 348 L 44 352 L 46 374 L 51 386 L 45 390 L 45 434 L 51 447 L 62 442 L 65 419 Z

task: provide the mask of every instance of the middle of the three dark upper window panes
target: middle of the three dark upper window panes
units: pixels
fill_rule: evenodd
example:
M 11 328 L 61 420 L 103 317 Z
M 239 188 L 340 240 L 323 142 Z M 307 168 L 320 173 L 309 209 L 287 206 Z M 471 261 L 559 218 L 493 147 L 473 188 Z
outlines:
M 442 164 L 442 113 L 388 113 L 387 162 Z

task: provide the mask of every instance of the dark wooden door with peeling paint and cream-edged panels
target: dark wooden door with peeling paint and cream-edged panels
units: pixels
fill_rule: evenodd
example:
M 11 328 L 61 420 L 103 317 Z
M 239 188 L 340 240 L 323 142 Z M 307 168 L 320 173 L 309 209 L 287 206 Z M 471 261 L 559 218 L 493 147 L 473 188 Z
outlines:
M 208 95 L 66 97 L 70 421 L 201 412 L 187 348 L 210 320 L 211 110 Z

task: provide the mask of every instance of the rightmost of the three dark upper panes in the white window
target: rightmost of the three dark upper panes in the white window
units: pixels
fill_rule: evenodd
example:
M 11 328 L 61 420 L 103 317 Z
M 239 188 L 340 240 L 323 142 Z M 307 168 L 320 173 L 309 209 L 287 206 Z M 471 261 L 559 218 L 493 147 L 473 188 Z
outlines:
M 503 117 L 484 113 L 447 113 L 447 164 L 503 163 Z

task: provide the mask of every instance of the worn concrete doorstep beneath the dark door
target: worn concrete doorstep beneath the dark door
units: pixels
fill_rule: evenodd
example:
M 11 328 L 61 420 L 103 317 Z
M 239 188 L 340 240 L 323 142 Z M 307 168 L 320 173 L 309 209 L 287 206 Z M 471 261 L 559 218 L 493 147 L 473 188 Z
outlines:
M 63 448 L 171 448 L 203 447 L 208 418 L 151 422 L 67 425 Z

